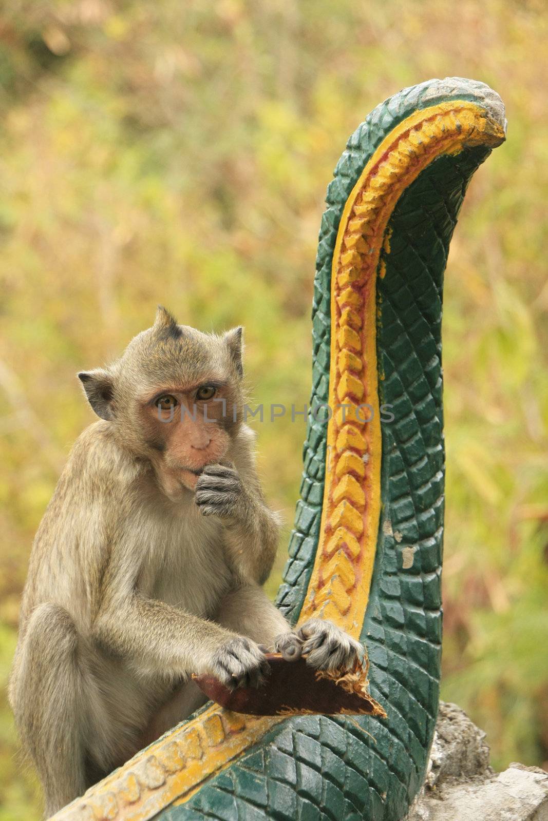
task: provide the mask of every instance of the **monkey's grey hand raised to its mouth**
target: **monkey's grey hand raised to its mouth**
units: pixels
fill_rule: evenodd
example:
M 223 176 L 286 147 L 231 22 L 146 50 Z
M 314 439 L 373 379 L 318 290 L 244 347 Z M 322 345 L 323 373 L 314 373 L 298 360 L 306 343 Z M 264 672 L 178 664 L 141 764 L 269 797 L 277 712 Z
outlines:
M 206 465 L 196 482 L 196 504 L 204 516 L 246 518 L 252 499 L 237 470 L 225 465 Z

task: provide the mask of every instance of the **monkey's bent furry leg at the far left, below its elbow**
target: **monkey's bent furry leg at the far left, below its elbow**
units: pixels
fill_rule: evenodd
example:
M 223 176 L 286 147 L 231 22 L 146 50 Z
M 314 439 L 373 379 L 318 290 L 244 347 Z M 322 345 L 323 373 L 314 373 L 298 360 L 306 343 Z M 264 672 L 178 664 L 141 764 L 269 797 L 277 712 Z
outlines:
M 13 709 L 44 788 L 46 818 L 87 786 L 77 652 L 78 635 L 67 611 L 51 603 L 36 608 L 21 647 Z

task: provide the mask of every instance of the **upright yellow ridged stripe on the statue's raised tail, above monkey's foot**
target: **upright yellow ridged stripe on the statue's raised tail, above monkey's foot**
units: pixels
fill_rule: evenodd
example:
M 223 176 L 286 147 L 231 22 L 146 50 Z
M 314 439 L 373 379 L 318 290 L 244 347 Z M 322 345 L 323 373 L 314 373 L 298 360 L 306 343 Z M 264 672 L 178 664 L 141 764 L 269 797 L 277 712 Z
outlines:
M 371 588 L 380 521 L 380 407 L 376 359 L 376 276 L 385 276 L 380 251 L 389 253 L 387 224 L 403 191 L 440 154 L 463 146 L 495 145 L 502 128 L 486 110 L 466 100 L 417 111 L 375 150 L 344 206 L 331 268 L 331 354 L 329 406 L 334 411 L 327 429 L 328 459 L 324 500 L 314 570 L 299 621 L 312 616 L 331 618 L 359 636 Z M 361 312 L 362 322 L 356 314 Z M 361 328 L 358 331 L 357 328 Z M 343 402 L 371 406 L 371 420 L 358 428 L 350 414 L 336 412 Z M 363 410 L 367 418 L 368 409 Z M 365 470 L 352 469 L 352 460 Z M 343 461 L 343 467 L 338 466 Z M 345 466 L 365 492 L 358 499 L 355 483 L 340 481 Z M 357 509 L 358 508 L 358 509 Z M 331 561 L 334 533 L 349 534 L 344 549 L 348 563 L 342 573 Z M 357 550 L 356 545 L 359 545 Z M 352 585 L 341 583 L 345 578 Z M 337 580 L 337 583 L 335 583 Z M 350 599 L 350 605 L 348 601 Z

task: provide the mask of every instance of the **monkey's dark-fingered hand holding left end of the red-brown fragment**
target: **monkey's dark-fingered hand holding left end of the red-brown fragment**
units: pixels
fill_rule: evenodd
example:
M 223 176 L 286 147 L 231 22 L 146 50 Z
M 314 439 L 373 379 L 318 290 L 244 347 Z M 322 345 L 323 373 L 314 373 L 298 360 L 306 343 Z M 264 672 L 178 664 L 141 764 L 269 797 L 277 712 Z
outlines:
M 269 663 L 259 645 L 243 635 L 224 640 L 214 650 L 210 660 L 210 672 L 224 685 L 259 687 L 269 674 Z

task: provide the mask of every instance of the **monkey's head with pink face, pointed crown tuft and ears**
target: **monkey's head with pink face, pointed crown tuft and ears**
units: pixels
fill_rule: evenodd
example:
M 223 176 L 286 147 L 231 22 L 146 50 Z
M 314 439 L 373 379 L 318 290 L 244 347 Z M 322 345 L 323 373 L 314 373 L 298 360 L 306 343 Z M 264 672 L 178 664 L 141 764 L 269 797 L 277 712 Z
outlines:
M 230 459 L 242 414 L 242 328 L 219 337 L 177 325 L 159 309 L 108 369 L 78 374 L 95 413 L 148 459 L 176 499 L 206 465 Z

